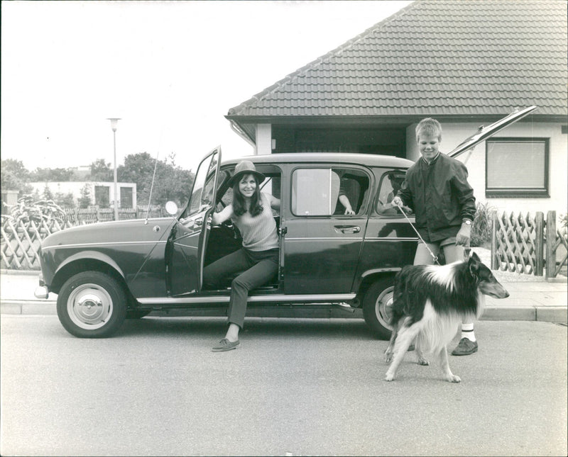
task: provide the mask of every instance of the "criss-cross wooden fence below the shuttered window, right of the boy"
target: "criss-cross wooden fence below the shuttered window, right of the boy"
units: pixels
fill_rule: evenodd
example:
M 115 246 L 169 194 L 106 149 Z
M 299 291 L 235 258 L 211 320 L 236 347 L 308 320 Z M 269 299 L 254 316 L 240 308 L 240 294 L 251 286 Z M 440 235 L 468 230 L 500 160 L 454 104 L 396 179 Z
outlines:
M 567 264 L 566 227 L 556 227 L 556 211 L 525 216 L 492 216 L 491 269 L 555 278 Z M 557 257 L 559 259 L 557 259 Z

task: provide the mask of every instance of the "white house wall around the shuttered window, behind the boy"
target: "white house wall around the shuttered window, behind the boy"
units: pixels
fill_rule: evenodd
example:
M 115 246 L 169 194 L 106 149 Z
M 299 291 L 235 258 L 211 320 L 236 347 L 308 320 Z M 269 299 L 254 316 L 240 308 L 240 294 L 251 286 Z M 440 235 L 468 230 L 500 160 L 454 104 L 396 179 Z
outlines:
M 442 123 L 442 152 L 449 152 L 462 141 L 473 135 L 479 123 Z M 568 135 L 561 131 L 559 123 L 515 123 L 501 130 L 494 138 L 498 137 L 537 137 L 549 138 L 549 190 L 550 198 L 486 198 L 485 196 L 485 142 L 477 145 L 471 155 L 464 152 L 457 159 L 466 163 L 469 171 L 469 184 L 474 188 L 477 201 L 488 203 L 499 212 L 507 213 L 531 213 L 537 211 L 547 213 L 555 210 L 557 214 L 568 212 Z M 420 152 L 415 139 L 416 124 L 406 130 L 407 157 L 415 161 L 420 157 Z

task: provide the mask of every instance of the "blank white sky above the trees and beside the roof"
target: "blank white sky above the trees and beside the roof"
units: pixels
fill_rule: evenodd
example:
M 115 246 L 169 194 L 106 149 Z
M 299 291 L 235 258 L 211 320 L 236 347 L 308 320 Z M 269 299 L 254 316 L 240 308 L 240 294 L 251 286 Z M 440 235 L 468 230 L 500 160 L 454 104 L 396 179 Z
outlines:
M 191 169 L 224 118 L 410 1 L 2 1 L 1 159 L 28 170 L 138 152 Z

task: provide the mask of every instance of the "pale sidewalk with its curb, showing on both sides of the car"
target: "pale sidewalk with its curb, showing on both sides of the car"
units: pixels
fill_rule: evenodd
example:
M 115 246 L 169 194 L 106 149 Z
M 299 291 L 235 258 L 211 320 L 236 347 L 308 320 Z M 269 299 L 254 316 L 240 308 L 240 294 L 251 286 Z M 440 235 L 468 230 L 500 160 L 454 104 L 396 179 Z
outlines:
M 57 295 L 38 300 L 38 271 L 0 271 L 0 312 L 16 315 L 55 315 Z M 538 276 L 493 271 L 510 293 L 503 300 L 486 297 L 482 320 L 537 320 L 567 323 L 568 283 L 566 276 L 550 281 Z M 354 313 L 352 317 L 361 317 Z

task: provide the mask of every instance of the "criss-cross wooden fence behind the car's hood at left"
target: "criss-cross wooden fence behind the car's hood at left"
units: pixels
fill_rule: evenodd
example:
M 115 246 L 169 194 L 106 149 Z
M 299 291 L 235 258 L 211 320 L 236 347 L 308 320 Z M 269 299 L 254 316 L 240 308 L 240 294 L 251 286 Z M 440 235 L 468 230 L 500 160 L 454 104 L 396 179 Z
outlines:
M 161 208 L 151 207 L 148 217 L 162 217 Z M 146 218 L 146 208 L 119 210 L 119 219 Z M 41 241 L 68 227 L 94 222 L 114 220 L 112 208 L 90 207 L 87 209 L 65 210 L 64 217 L 44 218 L 41 221 L 15 220 L 2 215 L 0 227 L 0 268 L 14 270 L 39 270 L 39 247 Z

